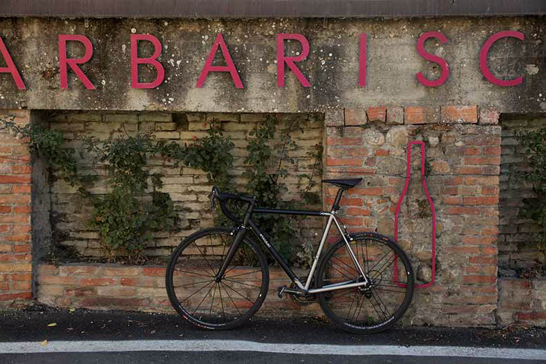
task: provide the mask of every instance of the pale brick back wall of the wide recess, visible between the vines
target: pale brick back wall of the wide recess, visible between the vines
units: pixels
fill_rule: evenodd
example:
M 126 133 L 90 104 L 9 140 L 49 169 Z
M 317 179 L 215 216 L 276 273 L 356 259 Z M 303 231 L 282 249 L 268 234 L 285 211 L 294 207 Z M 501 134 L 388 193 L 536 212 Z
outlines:
M 190 144 L 194 137 L 207 134 L 207 121 L 217 119 L 221 122 L 225 135 L 232 138 L 235 148 L 232 182 L 243 190 L 245 180 L 241 174 L 245 170 L 243 160 L 248 152 L 245 147 L 250 131 L 258 123 L 265 120 L 265 114 L 218 114 L 218 113 L 56 113 L 49 118 L 50 128 L 62 131 L 68 146 L 82 151 L 82 137 L 93 136 L 104 140 L 111 136 L 131 135 L 138 132 L 152 132 L 158 140 L 175 141 Z M 296 151 L 290 151 L 295 164 L 288 165 L 288 186 L 286 199 L 299 199 L 299 191 L 305 187 L 301 174 L 309 173 L 314 164 L 308 153 L 314 151 L 314 146 L 321 142 L 323 133 L 323 117 L 315 114 L 283 114 L 279 115 L 278 133 L 284 133 L 288 122 L 296 121 L 305 130 L 292 133 L 294 142 L 298 145 Z M 80 155 L 77 153 L 77 155 Z M 104 170 L 89 164 L 88 155 L 81 154 L 84 173 L 103 175 Z M 205 172 L 193 168 L 173 168 L 163 160 L 149 160 L 149 168 L 164 174 L 162 191 L 171 195 L 175 205 L 180 205 L 180 231 L 156 234 L 155 245 L 147 247 L 147 256 L 169 256 L 171 249 L 180 243 L 180 239 L 206 227 L 214 226 L 214 216 L 210 212 L 209 193 L 211 185 Z M 55 175 L 55 173 L 54 173 Z M 303 181 L 303 182 L 302 182 Z M 316 176 L 320 182 L 320 176 Z M 104 178 L 95 183 L 92 193 L 107 191 Z M 320 189 L 320 184 L 314 187 Z M 50 186 L 51 191 L 51 222 L 55 243 L 74 247 L 82 256 L 101 257 L 100 242 L 96 231 L 87 226 L 91 214 L 91 204 L 82 203 L 81 198 L 63 180 L 56 180 Z M 321 229 L 319 219 L 307 219 L 303 231 L 305 237 L 313 237 L 314 232 Z M 316 238 L 315 238 L 316 239 Z M 301 242 L 299 242 L 301 243 Z

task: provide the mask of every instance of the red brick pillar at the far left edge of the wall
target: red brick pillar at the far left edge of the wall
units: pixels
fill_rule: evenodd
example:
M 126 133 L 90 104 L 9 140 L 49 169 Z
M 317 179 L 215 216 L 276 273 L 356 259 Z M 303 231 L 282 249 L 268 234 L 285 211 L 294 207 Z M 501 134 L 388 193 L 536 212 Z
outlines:
M 28 111 L 2 111 L 23 126 Z M 32 298 L 30 244 L 30 153 L 25 140 L 0 132 L 0 309 L 20 307 Z

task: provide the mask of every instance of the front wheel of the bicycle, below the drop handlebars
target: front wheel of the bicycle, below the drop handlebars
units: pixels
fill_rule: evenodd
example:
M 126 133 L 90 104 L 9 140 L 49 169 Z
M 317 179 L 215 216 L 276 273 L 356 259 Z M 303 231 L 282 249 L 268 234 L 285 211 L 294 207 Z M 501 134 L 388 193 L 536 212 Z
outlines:
M 198 327 L 242 325 L 265 300 L 269 270 L 254 240 L 241 241 L 224 276 L 216 280 L 233 239 L 227 228 L 198 231 L 178 245 L 167 266 L 165 283 L 171 304 Z

